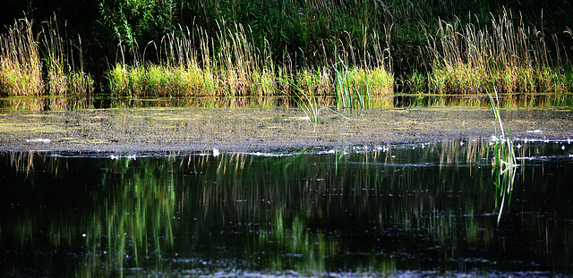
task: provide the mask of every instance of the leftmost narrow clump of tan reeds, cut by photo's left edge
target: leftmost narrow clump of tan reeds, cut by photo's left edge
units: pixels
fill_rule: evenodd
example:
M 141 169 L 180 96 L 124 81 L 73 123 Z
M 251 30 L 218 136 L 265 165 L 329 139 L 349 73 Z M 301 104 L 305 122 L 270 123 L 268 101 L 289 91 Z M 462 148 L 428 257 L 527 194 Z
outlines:
M 39 96 L 43 92 L 42 65 L 32 22 L 16 21 L 0 36 L 0 94 Z

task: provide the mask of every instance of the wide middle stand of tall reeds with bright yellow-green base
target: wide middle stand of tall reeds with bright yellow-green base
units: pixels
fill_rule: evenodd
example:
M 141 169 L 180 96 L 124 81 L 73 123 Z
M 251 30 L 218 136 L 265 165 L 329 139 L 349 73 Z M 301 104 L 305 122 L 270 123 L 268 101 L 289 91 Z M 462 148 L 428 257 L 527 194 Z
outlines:
M 142 51 L 153 52 L 147 49 L 152 46 L 160 63 L 148 63 L 140 57 L 131 65 L 116 63 L 107 73 L 109 87 L 116 95 L 134 97 L 280 95 L 310 101 L 313 97 L 338 95 L 346 101 L 341 105 L 345 107 L 367 107 L 368 97 L 392 94 L 393 77 L 386 70 L 388 49 L 379 49 L 387 52 L 382 56 L 364 52 L 368 59 L 361 60 L 365 64 L 362 67 L 350 68 L 352 62 L 343 52 L 346 59 L 336 65 L 325 59 L 319 67 L 296 68 L 287 54 L 282 64 L 274 63 L 269 45 L 262 49 L 254 46 L 251 34 L 238 24 L 221 25 L 214 38 L 200 28 L 181 28 L 168 34 L 158 46 L 151 44 Z

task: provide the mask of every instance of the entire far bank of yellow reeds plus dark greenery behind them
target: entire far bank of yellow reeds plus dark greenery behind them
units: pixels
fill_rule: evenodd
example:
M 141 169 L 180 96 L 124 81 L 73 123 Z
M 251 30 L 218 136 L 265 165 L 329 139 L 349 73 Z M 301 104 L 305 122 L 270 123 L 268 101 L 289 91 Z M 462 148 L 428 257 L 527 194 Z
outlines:
M 300 88 L 311 86 L 317 96 L 336 97 L 338 107 L 363 108 L 393 92 L 484 93 L 482 84 L 500 93 L 573 88 L 573 7 L 567 3 L 96 0 L 86 5 L 88 14 L 81 19 L 59 9 L 58 25 L 52 11 L 30 4 L 33 14 L 49 17 L 38 19 L 47 23 L 36 29 L 18 23 L 2 35 L 3 94 L 90 93 L 95 79 L 115 95 L 296 95 L 278 81 L 287 76 Z M 83 24 L 64 28 L 66 17 Z

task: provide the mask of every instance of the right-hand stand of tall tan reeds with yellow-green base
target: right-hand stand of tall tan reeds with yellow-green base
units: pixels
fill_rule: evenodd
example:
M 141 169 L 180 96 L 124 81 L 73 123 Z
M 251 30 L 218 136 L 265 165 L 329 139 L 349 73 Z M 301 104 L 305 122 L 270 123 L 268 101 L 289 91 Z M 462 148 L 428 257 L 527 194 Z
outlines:
M 462 24 L 439 21 L 428 35 L 433 55 L 430 87 L 438 93 L 484 93 L 484 86 L 501 93 L 546 92 L 568 87 L 553 70 L 543 30 L 514 25 L 506 12 L 492 15 L 489 28 L 478 20 Z M 559 49 L 557 50 L 559 51 Z

